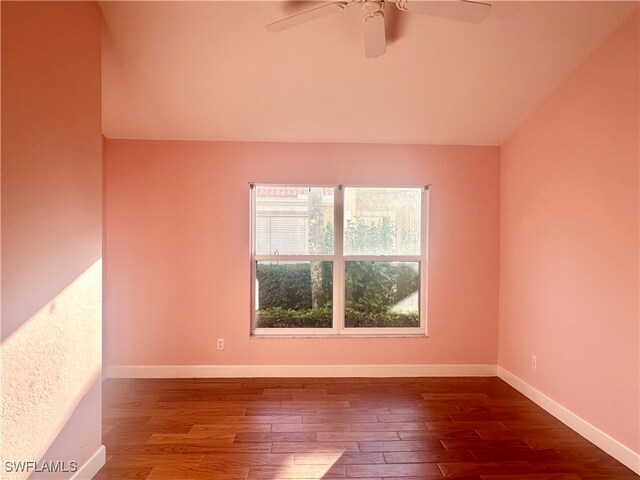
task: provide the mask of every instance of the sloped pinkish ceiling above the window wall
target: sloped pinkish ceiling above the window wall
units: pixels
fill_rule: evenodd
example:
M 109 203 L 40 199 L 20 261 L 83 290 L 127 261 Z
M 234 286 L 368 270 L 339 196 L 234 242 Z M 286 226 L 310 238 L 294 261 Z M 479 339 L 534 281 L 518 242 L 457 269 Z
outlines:
M 638 2 L 493 2 L 470 25 L 387 4 L 365 59 L 353 6 L 281 33 L 322 2 L 108 1 L 109 138 L 499 145 Z

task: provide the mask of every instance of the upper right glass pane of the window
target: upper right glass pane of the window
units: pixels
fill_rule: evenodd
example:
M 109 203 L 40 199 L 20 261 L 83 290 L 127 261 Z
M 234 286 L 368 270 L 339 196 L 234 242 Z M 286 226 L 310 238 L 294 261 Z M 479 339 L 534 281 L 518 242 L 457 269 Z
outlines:
M 345 255 L 420 255 L 422 189 L 347 187 Z

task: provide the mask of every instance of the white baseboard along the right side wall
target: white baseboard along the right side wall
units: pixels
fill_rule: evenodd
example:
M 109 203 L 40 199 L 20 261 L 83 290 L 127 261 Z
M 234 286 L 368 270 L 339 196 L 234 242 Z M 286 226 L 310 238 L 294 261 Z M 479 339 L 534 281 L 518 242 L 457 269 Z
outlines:
M 534 403 L 545 409 L 562 423 L 575 430 L 591 443 L 601 448 L 623 465 L 640 475 L 640 454 L 591 425 L 582 417 L 563 407 L 540 390 L 535 389 L 510 371 L 498 366 L 498 377 L 507 382 Z

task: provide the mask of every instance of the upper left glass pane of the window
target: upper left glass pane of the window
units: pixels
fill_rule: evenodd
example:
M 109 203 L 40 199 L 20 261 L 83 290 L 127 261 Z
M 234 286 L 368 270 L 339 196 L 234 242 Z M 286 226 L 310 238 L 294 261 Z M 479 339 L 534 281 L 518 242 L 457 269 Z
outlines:
M 256 254 L 333 254 L 333 188 L 255 188 Z

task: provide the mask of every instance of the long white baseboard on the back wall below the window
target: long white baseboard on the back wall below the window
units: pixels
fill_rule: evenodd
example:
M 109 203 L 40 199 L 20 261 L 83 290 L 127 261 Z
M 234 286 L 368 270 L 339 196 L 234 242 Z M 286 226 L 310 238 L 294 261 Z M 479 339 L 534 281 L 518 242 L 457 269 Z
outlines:
M 495 377 L 495 365 L 111 365 L 106 378 Z

